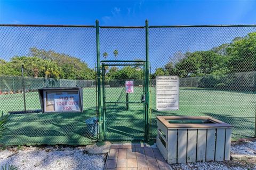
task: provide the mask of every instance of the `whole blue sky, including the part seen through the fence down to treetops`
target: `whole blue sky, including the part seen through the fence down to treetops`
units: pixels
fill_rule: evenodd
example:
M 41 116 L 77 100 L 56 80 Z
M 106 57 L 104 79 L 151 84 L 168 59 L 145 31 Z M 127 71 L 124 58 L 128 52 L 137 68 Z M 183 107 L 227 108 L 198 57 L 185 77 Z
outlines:
M 256 1 L 1 1 L 0 23 L 101 26 L 255 25 Z M 256 27 L 150 28 L 153 70 L 186 52 L 205 51 Z M 0 27 L 0 58 L 29 55 L 29 48 L 53 50 L 96 62 L 95 28 Z M 100 29 L 100 53 L 118 59 L 145 59 L 145 29 Z

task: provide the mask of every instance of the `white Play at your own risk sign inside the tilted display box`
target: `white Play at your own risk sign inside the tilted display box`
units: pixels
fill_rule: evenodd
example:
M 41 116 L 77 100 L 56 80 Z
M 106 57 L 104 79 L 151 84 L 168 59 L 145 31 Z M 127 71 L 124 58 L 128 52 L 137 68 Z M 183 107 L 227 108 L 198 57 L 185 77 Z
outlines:
M 78 94 L 54 95 L 55 111 L 79 111 Z

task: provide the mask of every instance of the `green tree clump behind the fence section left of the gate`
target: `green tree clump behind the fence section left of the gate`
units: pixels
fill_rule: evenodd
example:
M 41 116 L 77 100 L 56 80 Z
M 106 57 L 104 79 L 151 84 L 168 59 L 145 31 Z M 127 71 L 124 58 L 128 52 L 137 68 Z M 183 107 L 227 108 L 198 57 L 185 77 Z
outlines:
M 95 72 L 87 63 L 67 54 L 52 50 L 45 51 L 30 48 L 30 56 L 14 56 L 11 61 L 0 60 L 0 75 L 21 75 L 24 65 L 24 75 L 45 78 L 64 79 L 94 79 Z

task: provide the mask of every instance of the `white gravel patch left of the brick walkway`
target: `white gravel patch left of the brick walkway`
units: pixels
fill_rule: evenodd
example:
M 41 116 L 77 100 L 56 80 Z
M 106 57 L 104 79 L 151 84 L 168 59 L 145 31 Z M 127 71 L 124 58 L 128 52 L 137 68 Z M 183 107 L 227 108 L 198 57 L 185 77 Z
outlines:
M 10 149 L 0 151 L 0 165 L 12 164 L 20 169 L 103 169 L 105 155 L 84 153 L 84 147 L 54 148 L 26 147 L 19 153 L 7 158 L 15 152 Z

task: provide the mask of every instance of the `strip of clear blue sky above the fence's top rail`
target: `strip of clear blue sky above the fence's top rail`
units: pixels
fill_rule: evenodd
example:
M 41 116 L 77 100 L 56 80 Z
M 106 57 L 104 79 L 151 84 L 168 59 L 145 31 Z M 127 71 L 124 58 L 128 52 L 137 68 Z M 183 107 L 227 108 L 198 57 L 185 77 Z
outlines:
M 255 1 L 0 1 L 0 23 L 141 26 L 255 24 Z

